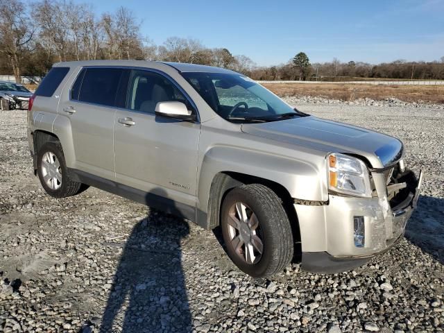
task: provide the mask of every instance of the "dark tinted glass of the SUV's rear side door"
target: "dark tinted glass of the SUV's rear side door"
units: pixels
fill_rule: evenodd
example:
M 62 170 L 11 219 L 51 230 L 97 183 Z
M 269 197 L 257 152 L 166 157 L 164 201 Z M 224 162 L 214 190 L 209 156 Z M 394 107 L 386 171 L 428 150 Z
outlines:
M 118 68 L 87 68 L 83 75 L 78 101 L 106 106 L 116 105 L 119 99 L 117 89 L 124 71 L 126 70 Z M 76 88 L 76 83 L 73 89 Z

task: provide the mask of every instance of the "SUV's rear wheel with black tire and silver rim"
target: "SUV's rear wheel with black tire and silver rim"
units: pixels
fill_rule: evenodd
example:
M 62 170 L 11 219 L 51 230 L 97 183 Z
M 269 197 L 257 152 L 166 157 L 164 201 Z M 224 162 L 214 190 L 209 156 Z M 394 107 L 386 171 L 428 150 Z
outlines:
M 60 142 L 46 142 L 40 147 L 37 152 L 37 175 L 46 193 L 54 198 L 74 196 L 85 189 L 85 185 L 69 177 Z

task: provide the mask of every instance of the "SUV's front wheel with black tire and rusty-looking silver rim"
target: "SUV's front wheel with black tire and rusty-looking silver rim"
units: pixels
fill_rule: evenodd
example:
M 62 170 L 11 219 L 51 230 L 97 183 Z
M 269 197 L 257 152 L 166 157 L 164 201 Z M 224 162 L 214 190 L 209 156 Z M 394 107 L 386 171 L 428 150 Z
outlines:
M 228 192 L 221 208 L 221 230 L 232 262 L 254 278 L 282 271 L 293 258 L 293 232 L 282 200 L 264 185 L 242 185 Z

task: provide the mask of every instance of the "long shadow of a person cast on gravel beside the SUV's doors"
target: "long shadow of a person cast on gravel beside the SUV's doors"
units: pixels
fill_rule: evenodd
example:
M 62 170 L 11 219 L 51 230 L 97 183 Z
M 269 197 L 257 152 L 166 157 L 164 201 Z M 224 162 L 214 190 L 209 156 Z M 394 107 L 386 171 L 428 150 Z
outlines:
M 189 225 L 177 209 L 171 212 L 179 219 L 150 208 L 133 228 L 99 332 L 191 332 L 180 246 Z

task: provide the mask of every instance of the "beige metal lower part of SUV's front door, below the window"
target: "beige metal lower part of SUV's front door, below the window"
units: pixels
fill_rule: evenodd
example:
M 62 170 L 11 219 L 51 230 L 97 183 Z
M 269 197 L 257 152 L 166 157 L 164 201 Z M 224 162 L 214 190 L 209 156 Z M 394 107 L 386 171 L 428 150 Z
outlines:
M 117 182 L 194 207 L 200 125 L 125 110 L 114 119 Z

